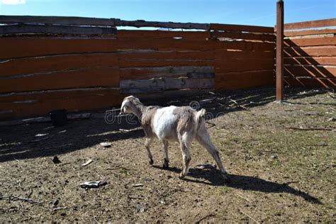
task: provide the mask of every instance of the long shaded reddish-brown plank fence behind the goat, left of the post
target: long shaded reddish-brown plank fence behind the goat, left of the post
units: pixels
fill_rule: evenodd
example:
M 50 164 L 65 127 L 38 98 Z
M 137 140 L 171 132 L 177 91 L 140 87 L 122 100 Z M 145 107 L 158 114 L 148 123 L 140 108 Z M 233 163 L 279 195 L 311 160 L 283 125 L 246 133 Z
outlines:
M 274 83 L 274 28 L 55 16 L 0 16 L 0 23 L 2 119 L 120 106 L 129 94 Z

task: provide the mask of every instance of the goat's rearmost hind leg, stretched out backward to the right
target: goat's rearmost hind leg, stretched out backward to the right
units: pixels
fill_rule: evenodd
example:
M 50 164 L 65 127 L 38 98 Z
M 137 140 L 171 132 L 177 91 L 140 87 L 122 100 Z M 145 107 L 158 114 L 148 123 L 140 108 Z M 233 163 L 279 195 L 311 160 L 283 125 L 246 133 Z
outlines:
M 210 135 L 208 134 L 208 130 L 206 130 L 206 127 L 203 126 L 198 130 L 198 133 L 196 134 L 196 140 L 203 145 L 203 147 L 208 150 L 208 152 L 211 154 L 213 159 L 215 159 L 215 162 L 217 163 L 220 172 L 222 174 L 222 177 L 225 181 L 230 181 L 230 177 L 228 177 L 228 173 L 226 172 L 225 168 L 223 167 L 222 160 L 220 160 L 218 150 L 215 148 L 215 145 L 213 145 L 213 142 L 211 142 Z

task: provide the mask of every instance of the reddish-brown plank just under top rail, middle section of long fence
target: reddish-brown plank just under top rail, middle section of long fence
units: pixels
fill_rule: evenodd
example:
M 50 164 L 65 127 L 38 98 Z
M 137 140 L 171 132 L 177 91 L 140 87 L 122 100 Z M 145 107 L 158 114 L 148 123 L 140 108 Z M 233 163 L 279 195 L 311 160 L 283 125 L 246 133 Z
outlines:
M 206 40 L 208 31 L 166 31 L 166 30 L 118 30 L 118 38 L 183 38 L 188 40 Z

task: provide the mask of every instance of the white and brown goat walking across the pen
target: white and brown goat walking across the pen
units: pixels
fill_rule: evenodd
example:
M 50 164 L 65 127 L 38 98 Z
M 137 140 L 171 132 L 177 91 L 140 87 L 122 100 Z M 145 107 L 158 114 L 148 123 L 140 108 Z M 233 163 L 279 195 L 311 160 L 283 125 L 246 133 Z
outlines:
M 150 164 L 153 164 L 153 157 L 150 152 L 150 143 L 153 138 L 159 138 L 162 142 L 164 149 L 163 167 L 165 169 L 169 167 L 168 141 L 177 141 L 183 157 L 183 169 L 179 178 L 184 179 L 188 174 L 189 162 L 191 161 L 189 145 L 196 138 L 215 159 L 223 179 L 230 181 L 220 160 L 218 150 L 211 142 L 206 129 L 205 109 L 195 111 L 190 106 L 144 106 L 135 96 L 128 96 L 123 99 L 121 104 L 121 114 L 123 113 L 133 113 L 138 117 L 145 131 L 145 148 Z

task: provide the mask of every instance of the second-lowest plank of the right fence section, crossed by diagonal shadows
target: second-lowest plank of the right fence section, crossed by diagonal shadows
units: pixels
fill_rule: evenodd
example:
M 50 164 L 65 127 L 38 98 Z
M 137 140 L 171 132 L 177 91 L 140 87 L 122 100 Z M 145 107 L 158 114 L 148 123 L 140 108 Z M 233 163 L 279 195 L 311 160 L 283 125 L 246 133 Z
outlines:
M 284 71 L 293 77 L 336 77 L 336 67 L 329 66 L 285 65 Z

